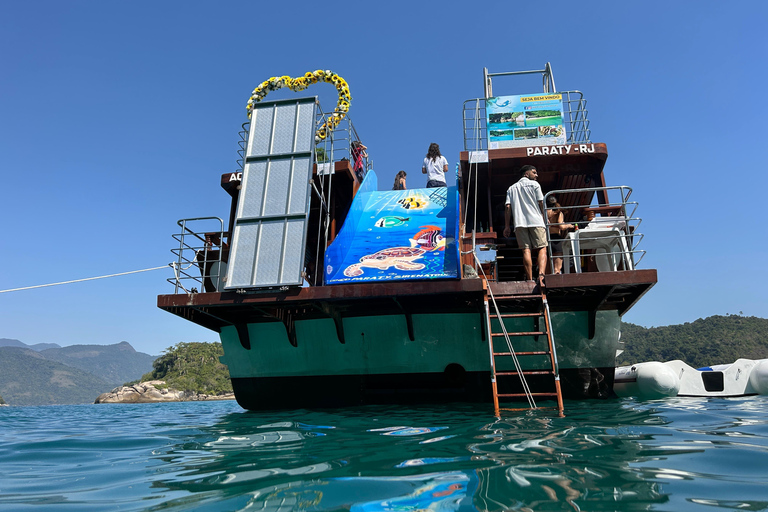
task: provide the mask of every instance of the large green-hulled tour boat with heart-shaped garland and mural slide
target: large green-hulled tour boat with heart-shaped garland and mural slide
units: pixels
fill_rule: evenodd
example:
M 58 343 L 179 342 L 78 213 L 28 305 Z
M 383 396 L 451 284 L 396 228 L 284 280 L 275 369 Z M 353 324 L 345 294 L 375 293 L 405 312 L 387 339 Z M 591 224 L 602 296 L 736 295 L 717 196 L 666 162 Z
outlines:
M 521 74 L 540 75 L 543 91 L 494 95 L 494 80 Z M 342 77 L 317 70 L 254 90 L 238 167 L 220 179 L 230 218 L 178 222 L 173 293 L 157 299 L 219 333 L 242 407 L 469 401 L 498 412 L 538 400 L 562 411 L 563 398 L 613 395 L 622 315 L 657 281 L 638 268 L 638 203 L 608 185 L 584 95 L 557 92 L 549 63 L 484 69 L 483 81 L 461 107 L 447 186 L 406 191 L 379 190 L 373 152 L 354 150 Z M 333 111 L 317 97 L 267 97 L 321 82 L 339 91 Z M 520 112 L 526 126 L 510 127 Z M 550 263 L 537 281 L 503 235 L 524 164 L 563 225 L 580 228 L 565 235 L 563 273 Z

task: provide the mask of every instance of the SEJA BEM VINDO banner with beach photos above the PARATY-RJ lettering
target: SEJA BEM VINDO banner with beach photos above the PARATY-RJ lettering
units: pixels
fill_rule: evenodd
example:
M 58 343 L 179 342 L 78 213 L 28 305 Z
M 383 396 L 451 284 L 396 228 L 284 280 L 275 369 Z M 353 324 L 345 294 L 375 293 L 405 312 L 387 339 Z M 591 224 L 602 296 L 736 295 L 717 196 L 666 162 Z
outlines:
M 497 96 L 485 100 L 488 149 L 565 144 L 562 94 Z

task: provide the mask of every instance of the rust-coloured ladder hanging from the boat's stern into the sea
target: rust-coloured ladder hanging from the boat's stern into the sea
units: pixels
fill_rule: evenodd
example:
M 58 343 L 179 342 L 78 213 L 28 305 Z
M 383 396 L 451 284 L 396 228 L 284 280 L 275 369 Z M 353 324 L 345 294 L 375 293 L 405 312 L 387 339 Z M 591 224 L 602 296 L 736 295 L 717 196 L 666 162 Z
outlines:
M 488 283 L 486 283 L 488 284 Z M 486 286 L 486 299 L 485 299 L 485 312 L 487 318 L 487 332 L 488 332 L 488 345 L 491 355 L 491 386 L 493 389 L 493 406 L 496 416 L 499 415 L 499 411 L 524 411 L 525 408 L 500 408 L 499 399 L 515 399 L 526 398 L 531 409 L 538 409 L 536 406 L 535 398 L 554 398 L 557 400 L 557 411 L 560 416 L 563 416 L 563 394 L 560 389 L 560 375 L 557 364 L 557 352 L 555 351 L 555 343 L 552 337 L 552 323 L 550 321 L 549 304 L 547 303 L 547 296 L 544 290 L 539 287 L 539 293 L 533 293 L 529 295 L 502 295 L 494 297 L 490 286 Z M 489 303 L 490 299 L 490 303 Z M 506 308 L 501 305 L 507 303 Z M 502 312 L 513 310 L 519 311 L 523 309 L 523 312 Z M 498 320 L 498 328 L 493 330 L 492 318 Z M 539 319 L 544 319 L 544 328 L 541 329 Z M 520 332 L 508 332 L 504 325 L 504 319 L 506 318 L 532 318 L 534 320 L 534 330 L 520 331 Z M 516 351 L 512 345 L 512 338 L 518 338 L 523 336 L 533 336 L 534 342 L 539 341 L 539 336 L 546 336 L 547 347 L 544 350 L 532 350 L 532 351 Z M 506 350 L 502 352 L 497 351 L 497 347 L 494 347 L 494 339 L 504 338 L 506 341 Z M 519 356 L 547 356 L 550 361 L 551 369 L 547 370 L 523 370 L 518 359 Z M 505 358 L 511 358 L 514 362 L 514 371 L 496 371 L 497 363 Z M 531 392 L 526 376 L 533 375 L 551 375 L 553 380 L 552 391 L 540 391 Z M 499 386 L 497 379 L 512 379 L 518 377 L 523 387 L 522 393 L 499 393 Z

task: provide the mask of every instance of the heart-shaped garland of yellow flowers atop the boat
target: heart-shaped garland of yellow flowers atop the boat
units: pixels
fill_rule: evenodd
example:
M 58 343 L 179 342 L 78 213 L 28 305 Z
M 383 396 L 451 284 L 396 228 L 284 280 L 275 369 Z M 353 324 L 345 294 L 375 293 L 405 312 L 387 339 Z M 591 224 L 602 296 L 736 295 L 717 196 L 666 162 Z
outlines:
M 336 73 L 330 70 L 318 69 L 310 71 L 304 74 L 304 76 L 298 78 L 291 78 L 289 76 L 273 76 L 269 80 L 262 82 L 257 88 L 253 90 L 251 97 L 248 99 L 246 110 L 248 111 L 248 119 L 251 118 L 251 112 L 253 112 L 253 104 L 264 99 L 269 91 L 276 91 L 282 87 L 287 87 L 292 91 L 303 91 L 312 84 L 317 82 L 327 82 L 336 86 L 339 91 L 339 101 L 336 104 L 336 109 L 328 121 L 318 128 L 315 133 L 315 141 L 320 142 L 324 140 L 328 133 L 333 131 L 336 126 L 346 117 L 349 112 L 349 103 L 352 101 L 352 96 L 349 94 L 349 85 L 346 80 L 341 78 Z

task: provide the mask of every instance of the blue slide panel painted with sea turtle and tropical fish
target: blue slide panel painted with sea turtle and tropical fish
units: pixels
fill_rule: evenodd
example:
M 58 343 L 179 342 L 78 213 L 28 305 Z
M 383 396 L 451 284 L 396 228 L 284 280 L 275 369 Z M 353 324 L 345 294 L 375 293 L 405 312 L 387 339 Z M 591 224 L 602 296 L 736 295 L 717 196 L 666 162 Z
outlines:
M 456 187 L 376 186 L 371 171 L 325 252 L 325 284 L 458 278 Z

